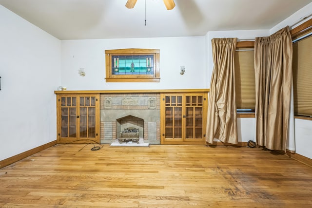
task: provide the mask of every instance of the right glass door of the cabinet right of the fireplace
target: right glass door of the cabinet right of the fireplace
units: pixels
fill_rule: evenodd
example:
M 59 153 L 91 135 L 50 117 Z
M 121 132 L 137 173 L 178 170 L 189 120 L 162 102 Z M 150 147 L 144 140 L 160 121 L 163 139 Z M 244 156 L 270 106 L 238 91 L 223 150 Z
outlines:
M 203 96 L 185 96 L 185 139 L 203 138 Z

